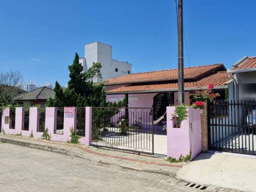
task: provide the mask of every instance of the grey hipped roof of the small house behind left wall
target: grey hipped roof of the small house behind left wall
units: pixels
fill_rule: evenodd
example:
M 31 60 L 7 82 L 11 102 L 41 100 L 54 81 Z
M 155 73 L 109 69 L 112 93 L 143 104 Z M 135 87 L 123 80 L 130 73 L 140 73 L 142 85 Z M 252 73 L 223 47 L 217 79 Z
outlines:
M 18 96 L 18 100 L 47 100 L 53 97 L 54 90 L 43 86 Z

